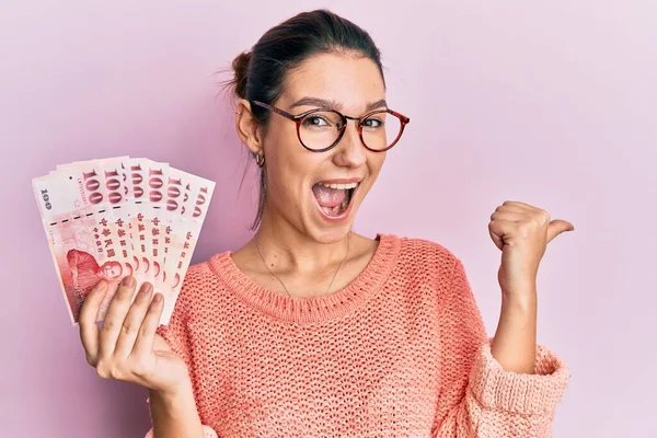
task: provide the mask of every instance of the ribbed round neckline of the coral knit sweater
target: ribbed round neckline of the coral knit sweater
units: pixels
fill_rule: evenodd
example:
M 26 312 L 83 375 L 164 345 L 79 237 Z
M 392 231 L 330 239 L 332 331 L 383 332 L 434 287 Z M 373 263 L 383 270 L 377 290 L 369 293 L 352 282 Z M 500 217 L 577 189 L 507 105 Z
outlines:
M 351 312 L 381 289 L 395 265 L 401 243 L 393 234 L 378 233 L 377 240 L 379 244 L 365 269 L 327 296 L 299 298 L 268 289 L 240 270 L 232 251 L 215 254 L 208 265 L 227 290 L 252 309 L 286 322 L 321 322 Z

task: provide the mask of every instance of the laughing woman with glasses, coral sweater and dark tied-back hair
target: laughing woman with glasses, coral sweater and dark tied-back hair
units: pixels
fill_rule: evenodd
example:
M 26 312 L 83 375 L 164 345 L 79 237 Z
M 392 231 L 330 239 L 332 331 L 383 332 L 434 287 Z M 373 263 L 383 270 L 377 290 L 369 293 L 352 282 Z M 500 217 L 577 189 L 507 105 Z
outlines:
M 517 201 L 495 210 L 489 342 L 447 249 L 350 231 L 408 122 L 388 111 L 370 36 L 302 13 L 233 67 L 237 130 L 261 171 L 257 232 L 191 268 L 158 334 L 161 296 L 142 288 L 130 306 L 126 278 L 99 333 L 94 290 L 80 325 L 99 374 L 150 390 L 158 438 L 549 436 L 567 370 L 537 347 L 535 277 L 572 224 Z

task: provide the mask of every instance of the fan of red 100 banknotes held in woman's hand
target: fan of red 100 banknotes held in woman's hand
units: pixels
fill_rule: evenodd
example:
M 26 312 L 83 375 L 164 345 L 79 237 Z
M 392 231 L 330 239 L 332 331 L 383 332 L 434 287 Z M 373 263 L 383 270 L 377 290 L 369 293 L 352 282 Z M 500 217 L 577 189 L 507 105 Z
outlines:
M 32 181 L 71 322 L 101 280 L 102 321 L 131 275 L 164 297 L 168 324 L 189 266 L 215 183 L 145 158 L 58 165 Z

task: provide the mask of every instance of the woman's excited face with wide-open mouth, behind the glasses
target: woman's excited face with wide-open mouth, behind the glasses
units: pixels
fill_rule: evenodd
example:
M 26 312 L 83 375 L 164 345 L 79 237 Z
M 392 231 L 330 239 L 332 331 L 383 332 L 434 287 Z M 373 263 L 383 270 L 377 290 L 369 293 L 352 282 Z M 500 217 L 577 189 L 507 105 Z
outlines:
M 372 60 L 351 54 L 322 54 L 288 73 L 284 92 L 273 105 L 300 114 L 324 107 L 320 101 L 326 101 L 330 110 L 361 117 L 385 108 L 384 99 L 383 80 Z M 377 180 L 385 152 L 362 146 L 356 120 L 347 123 L 341 141 L 325 152 L 303 148 L 292 120 L 275 113 L 269 120 L 263 138 L 267 215 L 287 220 L 318 242 L 341 240 Z M 332 184 L 338 185 L 330 187 Z

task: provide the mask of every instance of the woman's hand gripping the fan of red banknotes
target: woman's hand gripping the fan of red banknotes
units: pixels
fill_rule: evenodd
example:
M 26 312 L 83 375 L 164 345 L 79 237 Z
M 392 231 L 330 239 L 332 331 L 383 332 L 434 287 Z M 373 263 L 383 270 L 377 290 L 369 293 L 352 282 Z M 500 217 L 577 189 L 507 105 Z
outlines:
M 107 284 L 99 283 L 84 300 L 79 323 L 87 361 L 104 379 L 173 394 L 189 382 L 189 374 L 185 362 L 155 333 L 163 297 L 157 293 L 151 301 L 152 286 L 146 283 L 132 302 L 135 284 L 135 278 L 124 278 L 100 328 L 96 318 Z

